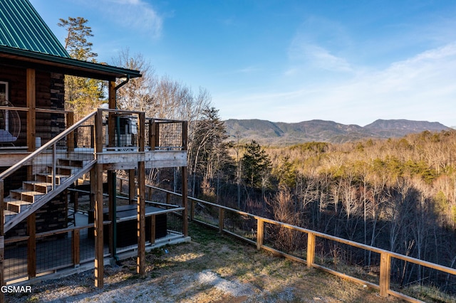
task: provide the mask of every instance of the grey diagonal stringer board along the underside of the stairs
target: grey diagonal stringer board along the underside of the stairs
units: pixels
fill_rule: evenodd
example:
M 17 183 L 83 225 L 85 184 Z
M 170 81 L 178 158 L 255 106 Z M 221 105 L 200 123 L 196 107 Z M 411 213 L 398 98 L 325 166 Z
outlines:
M 29 206 L 26 210 L 21 211 L 18 213 L 14 218 L 11 218 L 8 222 L 5 223 L 4 225 L 4 233 L 7 231 L 11 230 L 11 228 L 14 228 L 14 226 L 18 225 L 21 223 L 24 219 L 26 219 L 28 216 L 30 216 L 32 213 L 38 211 L 41 206 L 45 205 L 49 201 L 51 201 L 53 198 L 55 198 L 59 193 L 62 191 L 66 190 L 69 186 L 73 185 L 73 183 L 78 180 L 79 177 L 83 176 L 83 174 L 88 173 L 90 169 L 93 168 L 93 166 L 97 163 L 97 159 L 93 159 L 86 166 L 84 166 L 82 169 L 79 169 L 76 171 L 75 174 L 72 176 L 68 177 L 65 181 L 63 181 L 62 184 L 56 186 L 52 191 L 46 193 L 44 196 L 39 198 L 38 201 L 34 202 Z

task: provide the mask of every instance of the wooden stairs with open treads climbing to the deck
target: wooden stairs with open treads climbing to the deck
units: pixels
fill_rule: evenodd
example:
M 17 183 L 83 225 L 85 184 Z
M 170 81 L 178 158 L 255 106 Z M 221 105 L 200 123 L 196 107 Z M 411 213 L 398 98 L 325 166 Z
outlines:
M 11 190 L 9 196 L 4 198 L 5 225 L 16 225 L 19 222 L 12 221 L 16 221 L 18 217 L 25 218 L 28 216 L 26 213 L 33 213 L 51 201 L 58 193 L 71 186 L 76 179 L 86 174 L 93 164 L 95 164 L 93 154 L 72 153 L 58 156 L 55 168 L 52 165 L 46 166 L 33 176 L 32 181 L 23 181 L 21 188 Z M 12 226 L 9 226 L 10 228 Z

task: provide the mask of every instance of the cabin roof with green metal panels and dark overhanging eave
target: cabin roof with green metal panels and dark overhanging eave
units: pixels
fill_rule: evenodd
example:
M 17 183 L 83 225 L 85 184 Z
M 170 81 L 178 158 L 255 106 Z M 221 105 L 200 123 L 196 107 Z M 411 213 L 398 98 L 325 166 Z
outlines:
M 28 0 L 0 0 L 0 63 L 4 60 L 102 80 L 141 77 L 138 70 L 71 58 Z

